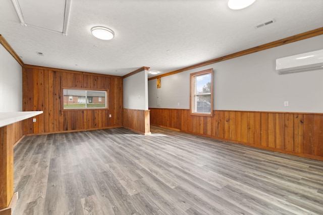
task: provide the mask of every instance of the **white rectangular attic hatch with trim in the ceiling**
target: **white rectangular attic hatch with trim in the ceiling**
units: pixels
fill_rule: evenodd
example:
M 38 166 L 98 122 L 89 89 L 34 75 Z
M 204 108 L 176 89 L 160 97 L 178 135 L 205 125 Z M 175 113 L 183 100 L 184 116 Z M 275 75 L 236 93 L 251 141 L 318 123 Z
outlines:
M 21 25 L 67 34 L 71 0 L 12 0 Z

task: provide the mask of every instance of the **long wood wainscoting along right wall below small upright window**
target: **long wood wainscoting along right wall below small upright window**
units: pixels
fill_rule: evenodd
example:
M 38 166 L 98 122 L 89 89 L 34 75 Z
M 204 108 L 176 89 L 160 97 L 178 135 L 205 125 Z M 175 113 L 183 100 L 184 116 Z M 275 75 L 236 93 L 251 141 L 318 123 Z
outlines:
M 150 123 L 182 132 L 323 161 L 323 114 L 150 109 Z

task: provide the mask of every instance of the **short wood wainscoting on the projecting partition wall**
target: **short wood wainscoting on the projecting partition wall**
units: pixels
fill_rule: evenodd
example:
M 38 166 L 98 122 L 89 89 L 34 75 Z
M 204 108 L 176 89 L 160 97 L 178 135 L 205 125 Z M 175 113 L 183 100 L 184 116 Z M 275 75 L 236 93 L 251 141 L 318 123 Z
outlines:
M 149 110 L 123 110 L 123 127 L 139 134 L 150 134 Z

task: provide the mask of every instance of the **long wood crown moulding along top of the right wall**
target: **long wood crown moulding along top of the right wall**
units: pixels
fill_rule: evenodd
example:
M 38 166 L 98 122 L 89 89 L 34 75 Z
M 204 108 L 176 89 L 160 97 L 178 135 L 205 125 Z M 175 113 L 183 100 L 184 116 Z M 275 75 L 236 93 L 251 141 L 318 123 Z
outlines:
M 238 51 L 238 52 L 235 52 L 235 53 L 232 53 L 230 55 L 226 55 L 226 56 L 223 56 L 223 57 L 220 57 L 220 58 L 212 59 L 212 60 L 205 61 L 205 62 L 202 62 L 202 63 L 199 63 L 199 64 L 194 64 L 192 66 L 188 66 L 188 67 L 185 67 L 183 69 L 175 70 L 175 71 L 172 71 L 172 72 L 169 72 L 169 73 L 166 73 L 166 74 L 154 76 L 154 77 L 148 78 L 148 81 L 156 79 L 156 78 L 161 78 L 161 77 L 165 77 L 165 76 L 169 76 L 169 75 L 174 75 L 174 74 L 184 72 L 184 71 L 187 71 L 187 70 L 191 70 L 191 69 L 195 69 L 195 68 L 198 68 L 198 67 L 203 67 L 203 66 L 206 66 L 206 65 L 219 63 L 219 62 L 222 62 L 222 61 L 227 61 L 229 59 L 238 58 L 238 57 L 241 57 L 241 56 L 244 56 L 244 55 L 248 55 L 249 53 L 254 53 L 254 52 L 265 50 L 265 49 L 268 49 L 268 48 L 273 48 L 273 47 L 276 47 L 276 46 L 285 45 L 285 44 L 288 44 L 288 43 L 291 43 L 291 42 L 296 42 L 296 41 L 299 41 L 299 40 L 307 39 L 307 38 L 318 36 L 318 35 L 321 35 L 321 34 L 323 34 L 323 27 L 322 28 L 317 28 L 317 29 L 314 29 L 314 30 L 311 30 L 311 31 L 307 31 L 307 32 L 304 32 L 304 33 L 296 34 L 294 36 L 286 37 L 284 39 L 276 40 L 274 42 L 270 42 L 270 43 L 266 43 L 266 44 L 263 44 L 263 45 L 248 48 L 246 50 Z

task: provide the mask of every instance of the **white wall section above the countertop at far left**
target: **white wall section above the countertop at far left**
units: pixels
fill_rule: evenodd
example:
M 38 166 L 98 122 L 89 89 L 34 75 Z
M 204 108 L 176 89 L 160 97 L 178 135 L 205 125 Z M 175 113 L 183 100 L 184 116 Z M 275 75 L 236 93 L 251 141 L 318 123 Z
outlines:
M 0 45 L 0 112 L 22 111 L 22 67 Z

